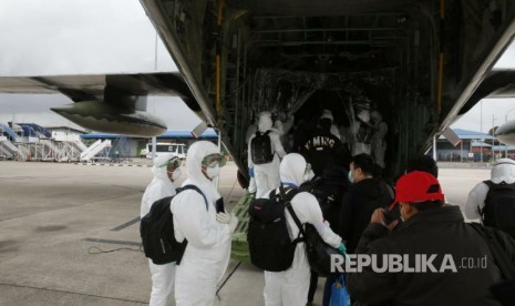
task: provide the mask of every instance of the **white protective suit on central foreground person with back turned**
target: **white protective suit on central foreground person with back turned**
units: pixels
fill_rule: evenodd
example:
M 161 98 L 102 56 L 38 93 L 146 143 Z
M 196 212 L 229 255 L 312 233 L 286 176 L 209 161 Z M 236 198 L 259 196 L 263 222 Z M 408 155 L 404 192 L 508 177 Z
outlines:
M 306 160 L 302 155 L 297 153 L 286 155 L 280 164 L 280 180 L 282 184 L 300 186 L 306 181 L 305 170 Z M 291 206 L 301 223 L 312 224 L 326 243 L 333 247 L 339 247 L 341 238 L 323 221 L 320 205 L 312 194 L 307 192 L 298 193 L 291 200 Z M 299 235 L 299 228 L 288 211 L 286 211 L 286 220 L 290 230 L 290 236 L 293 239 Z M 265 272 L 265 305 L 306 305 L 308 302 L 310 269 L 305 247 L 303 243 L 297 244 L 293 264 L 289 269 L 284 272 Z

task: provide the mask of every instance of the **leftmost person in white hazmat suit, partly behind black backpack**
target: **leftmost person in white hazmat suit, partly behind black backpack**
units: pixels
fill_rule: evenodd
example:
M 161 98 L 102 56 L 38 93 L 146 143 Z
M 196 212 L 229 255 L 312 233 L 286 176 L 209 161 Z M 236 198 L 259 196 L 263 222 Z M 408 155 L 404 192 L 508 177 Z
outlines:
M 172 153 L 161 154 L 154 159 L 152 173 L 154 174 L 154 178 L 143 194 L 141 217 L 148 214 L 155 201 L 175 195 L 175 185 L 173 182 L 181 177 L 181 160 Z M 169 305 L 174 290 L 175 263 L 155 265 L 148 258 L 148 266 L 152 275 L 150 305 Z

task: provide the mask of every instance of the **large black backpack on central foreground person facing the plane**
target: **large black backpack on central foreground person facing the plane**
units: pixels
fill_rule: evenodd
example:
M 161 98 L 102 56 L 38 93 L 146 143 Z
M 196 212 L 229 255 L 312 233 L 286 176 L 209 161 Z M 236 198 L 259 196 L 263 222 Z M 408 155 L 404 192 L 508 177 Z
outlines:
M 272 191 L 269 198 L 250 202 L 247 242 L 250 262 L 258 268 L 281 272 L 293 263 L 295 248 L 300 239 L 291 241 L 285 208 L 290 206 L 297 193 L 291 188 L 281 196 Z

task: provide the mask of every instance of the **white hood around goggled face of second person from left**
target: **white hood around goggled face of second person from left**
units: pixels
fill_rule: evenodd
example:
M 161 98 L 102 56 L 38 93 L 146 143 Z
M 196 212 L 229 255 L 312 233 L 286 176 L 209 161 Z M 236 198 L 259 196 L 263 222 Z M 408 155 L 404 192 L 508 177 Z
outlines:
M 202 172 L 202 161 L 209 154 L 220 153 L 218 146 L 208 141 L 197 141 L 189 146 L 186 159 L 188 178 L 197 182 L 209 183 L 210 181 Z

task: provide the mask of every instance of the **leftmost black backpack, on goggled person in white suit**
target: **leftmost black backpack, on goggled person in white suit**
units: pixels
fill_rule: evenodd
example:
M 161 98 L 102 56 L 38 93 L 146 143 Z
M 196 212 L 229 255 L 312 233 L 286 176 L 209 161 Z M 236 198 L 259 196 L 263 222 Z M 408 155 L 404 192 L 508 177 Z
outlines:
M 177 188 L 177 194 L 186 190 L 194 190 L 202 194 L 207 210 L 206 196 L 197 186 L 186 185 Z M 174 235 L 174 218 L 169 210 L 169 204 L 174 196 L 166 196 L 154 202 L 151 211 L 142 217 L 140 224 L 143 251 L 145 252 L 145 256 L 151 258 L 155 265 L 173 262 L 177 262 L 178 265 L 186 249 L 187 241 L 178 243 Z

